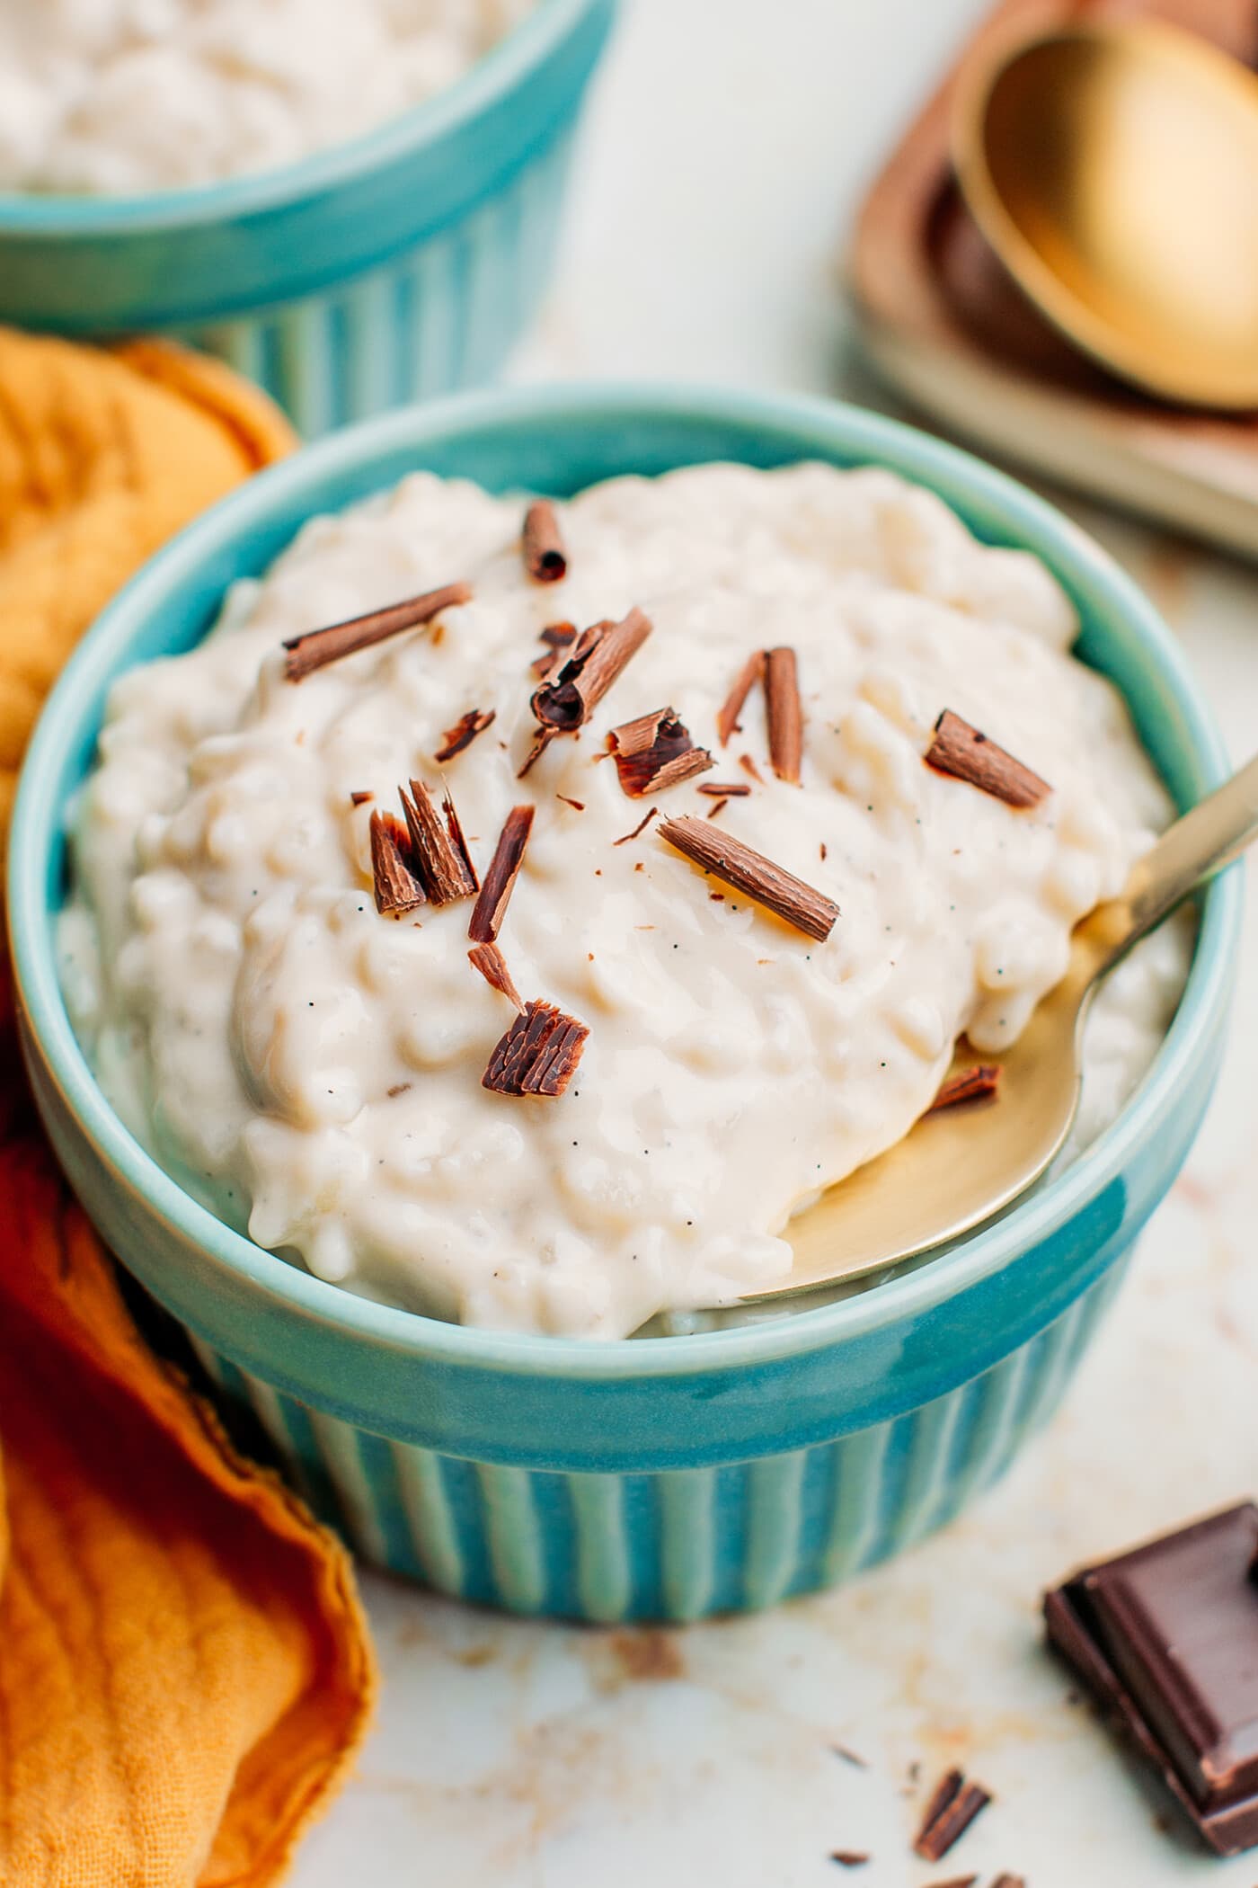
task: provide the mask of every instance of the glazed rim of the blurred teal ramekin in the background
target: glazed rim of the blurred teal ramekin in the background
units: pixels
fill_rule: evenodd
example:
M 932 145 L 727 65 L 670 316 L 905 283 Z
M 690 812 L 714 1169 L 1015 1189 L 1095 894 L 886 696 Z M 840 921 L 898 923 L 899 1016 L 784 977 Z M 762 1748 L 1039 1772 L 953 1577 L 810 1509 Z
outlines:
M 481 117 L 522 85 L 528 74 L 564 42 L 590 0 L 538 0 L 538 9 L 513 26 L 460 79 L 377 125 L 290 164 L 243 177 L 198 183 L 179 191 L 132 196 L 70 196 L 0 191 L 0 240 L 6 236 L 130 236 L 194 228 L 234 217 L 300 204 L 341 189 L 373 170 L 385 170 Z

